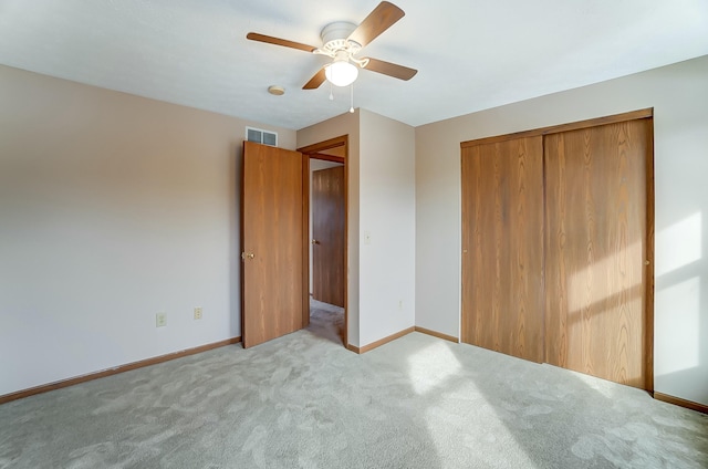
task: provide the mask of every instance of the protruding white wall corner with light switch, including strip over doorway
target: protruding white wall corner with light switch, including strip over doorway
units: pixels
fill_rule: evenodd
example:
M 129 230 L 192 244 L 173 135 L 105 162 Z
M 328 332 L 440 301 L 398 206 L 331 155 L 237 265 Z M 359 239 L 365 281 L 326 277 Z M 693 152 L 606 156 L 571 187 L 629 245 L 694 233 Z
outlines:
M 415 324 L 415 132 L 357 110 L 298 131 L 298 147 L 345 134 L 348 341 L 365 346 Z

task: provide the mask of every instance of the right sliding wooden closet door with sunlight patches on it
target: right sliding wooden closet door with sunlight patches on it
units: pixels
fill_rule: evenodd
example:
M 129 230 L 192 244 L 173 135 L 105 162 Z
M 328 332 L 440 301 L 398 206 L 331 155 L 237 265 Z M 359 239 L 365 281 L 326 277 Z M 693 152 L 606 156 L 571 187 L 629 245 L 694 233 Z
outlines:
M 652 122 L 548 135 L 546 361 L 652 388 L 645 300 Z

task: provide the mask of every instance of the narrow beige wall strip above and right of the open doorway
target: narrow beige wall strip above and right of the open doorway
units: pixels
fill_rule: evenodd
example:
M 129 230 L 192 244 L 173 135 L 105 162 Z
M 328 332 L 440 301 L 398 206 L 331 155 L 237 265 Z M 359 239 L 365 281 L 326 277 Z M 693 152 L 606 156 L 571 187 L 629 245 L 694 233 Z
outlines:
M 358 346 L 358 173 L 360 173 L 360 116 L 358 110 L 345 113 L 320 124 L 298 131 L 298 148 L 348 135 L 348 154 L 346 155 L 346 319 L 347 341 Z

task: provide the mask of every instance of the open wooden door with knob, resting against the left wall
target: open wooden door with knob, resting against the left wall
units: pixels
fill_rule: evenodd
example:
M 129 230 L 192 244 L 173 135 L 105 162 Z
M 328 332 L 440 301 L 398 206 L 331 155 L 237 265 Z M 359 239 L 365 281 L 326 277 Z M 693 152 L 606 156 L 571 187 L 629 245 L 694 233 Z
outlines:
M 243 144 L 242 337 L 250 347 L 303 326 L 302 154 Z

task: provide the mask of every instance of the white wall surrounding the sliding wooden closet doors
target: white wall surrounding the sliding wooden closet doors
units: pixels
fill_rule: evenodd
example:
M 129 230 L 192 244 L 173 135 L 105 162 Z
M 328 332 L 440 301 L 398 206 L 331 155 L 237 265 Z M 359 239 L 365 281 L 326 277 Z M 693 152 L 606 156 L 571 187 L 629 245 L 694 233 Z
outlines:
M 460 148 L 654 107 L 655 389 L 708 405 L 708 56 L 416 128 L 416 325 L 459 336 Z

